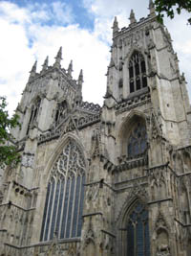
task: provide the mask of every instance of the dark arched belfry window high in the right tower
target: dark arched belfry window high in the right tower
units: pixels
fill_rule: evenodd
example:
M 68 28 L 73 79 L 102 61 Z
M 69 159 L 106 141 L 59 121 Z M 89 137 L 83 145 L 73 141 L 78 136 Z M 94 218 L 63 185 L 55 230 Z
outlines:
M 130 93 L 147 86 L 145 60 L 138 51 L 129 60 L 129 86 Z

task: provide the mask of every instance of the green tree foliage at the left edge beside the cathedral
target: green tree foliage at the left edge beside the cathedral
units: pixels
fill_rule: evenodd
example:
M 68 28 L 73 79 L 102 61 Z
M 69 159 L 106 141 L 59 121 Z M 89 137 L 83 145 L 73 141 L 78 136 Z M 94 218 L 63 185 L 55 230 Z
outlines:
M 13 142 L 11 128 L 20 127 L 18 115 L 14 114 L 11 118 L 6 110 L 6 98 L 0 96 L 0 167 L 6 165 L 16 166 L 20 161 L 20 154 Z

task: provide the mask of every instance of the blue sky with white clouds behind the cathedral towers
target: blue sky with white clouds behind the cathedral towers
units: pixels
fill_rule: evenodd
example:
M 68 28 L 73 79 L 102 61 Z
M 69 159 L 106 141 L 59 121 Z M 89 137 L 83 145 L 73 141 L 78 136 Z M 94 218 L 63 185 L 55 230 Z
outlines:
M 37 60 L 37 72 L 62 46 L 62 67 L 73 59 L 73 77 L 83 69 L 83 100 L 102 105 L 110 61 L 112 25 L 129 25 L 131 9 L 136 18 L 148 15 L 149 0 L 0 0 L 0 96 L 6 96 L 10 114 L 21 99 L 29 72 Z M 185 74 L 191 98 L 191 27 L 188 13 L 164 19 L 180 72 Z

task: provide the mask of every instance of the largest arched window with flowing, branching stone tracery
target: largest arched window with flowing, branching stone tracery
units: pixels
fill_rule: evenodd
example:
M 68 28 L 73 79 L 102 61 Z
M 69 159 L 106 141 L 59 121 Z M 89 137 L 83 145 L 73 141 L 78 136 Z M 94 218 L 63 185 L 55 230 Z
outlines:
M 85 160 L 70 139 L 53 165 L 47 186 L 40 241 L 80 237 Z

